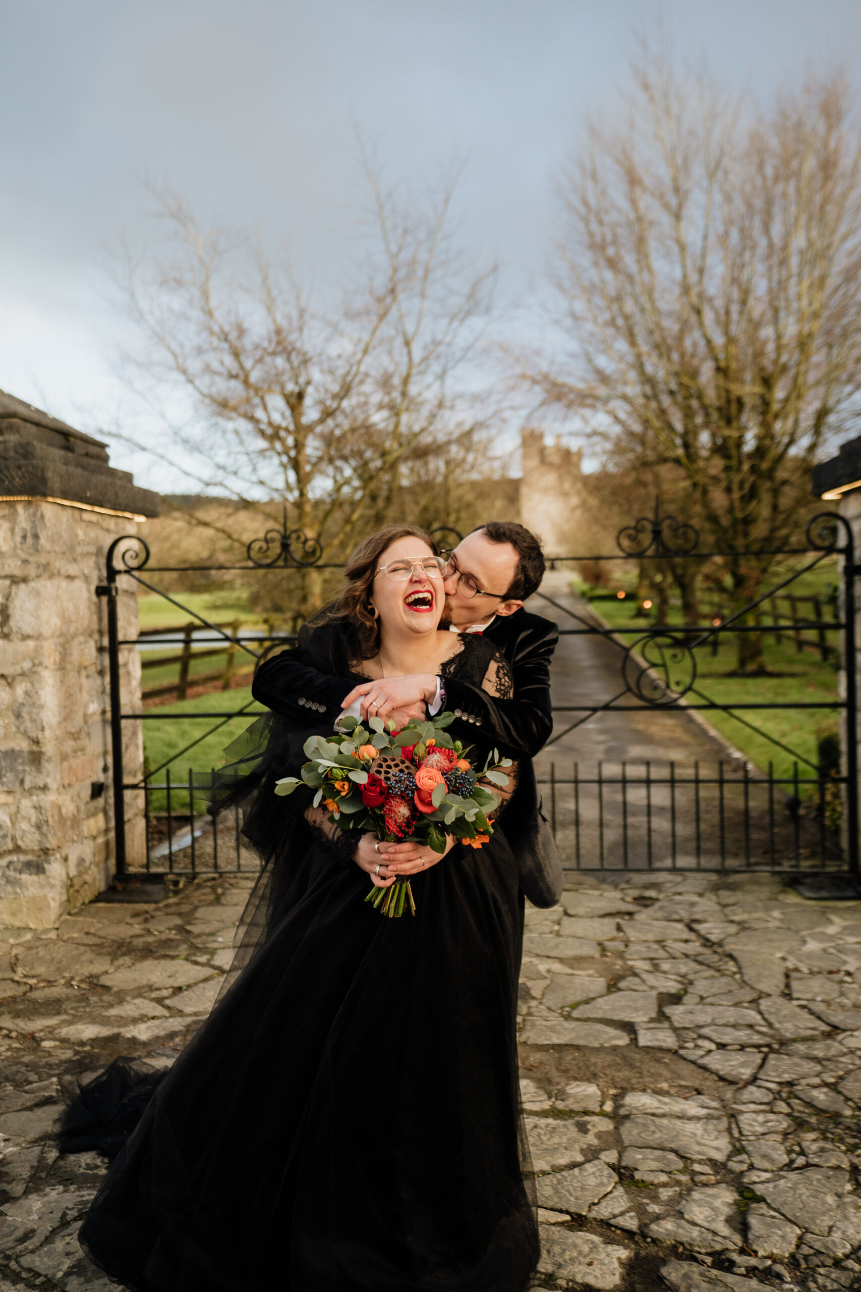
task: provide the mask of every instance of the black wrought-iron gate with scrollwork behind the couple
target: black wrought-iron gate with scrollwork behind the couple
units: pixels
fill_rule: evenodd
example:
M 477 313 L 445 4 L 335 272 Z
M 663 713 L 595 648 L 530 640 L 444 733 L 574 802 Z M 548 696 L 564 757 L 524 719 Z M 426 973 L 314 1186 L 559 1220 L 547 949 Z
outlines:
M 434 531 L 447 541 L 460 539 L 451 527 Z M 808 563 L 794 570 L 775 587 L 751 599 L 741 609 L 711 624 L 669 625 L 649 623 L 642 627 L 609 627 L 599 621 L 594 611 L 583 606 L 577 609 L 560 605 L 546 593 L 538 596 L 562 616 L 560 636 L 603 638 L 618 652 L 618 689 L 605 700 L 591 704 L 563 704 L 554 698 L 554 734 L 550 748 L 558 744 L 578 726 L 590 718 L 607 713 L 638 711 L 675 714 L 689 722 L 692 713 L 720 711 L 732 718 L 750 726 L 745 711 L 765 709 L 822 709 L 842 712 L 844 729 L 851 735 L 857 730 L 857 687 L 855 667 L 844 668 L 846 694 L 834 700 L 812 702 L 765 702 L 741 700 L 737 703 L 718 703 L 709 698 L 700 686 L 696 651 L 709 646 L 716 651 L 723 640 L 736 640 L 737 634 L 747 632 L 782 633 L 804 646 L 817 647 L 824 659 L 831 650 L 829 634 L 840 636 L 840 652 L 844 662 L 856 658 L 855 642 L 855 578 L 861 567 L 855 565 L 852 531 L 843 517 L 836 513 L 822 513 L 815 517 L 807 527 L 807 547 L 784 548 L 780 550 L 700 552 L 700 536 L 696 528 L 674 517 L 661 517 L 656 505 L 652 518 L 642 517 L 622 528 L 617 536 L 617 552 L 611 554 L 574 554 L 550 558 L 552 567 L 569 567 L 577 562 L 620 562 L 620 561 L 667 561 L 671 558 L 691 558 L 705 561 L 714 557 L 809 557 Z M 111 736 L 114 786 L 121 786 L 121 793 L 114 793 L 116 873 L 123 880 L 130 875 L 188 875 L 212 873 L 226 868 L 241 868 L 254 864 L 250 858 L 243 858 L 240 819 L 234 813 L 227 820 L 207 814 L 195 815 L 195 793 L 188 773 L 187 783 L 173 780 L 170 764 L 190 755 L 207 736 L 226 726 L 232 718 L 252 717 L 259 709 L 254 702 L 241 708 L 213 708 L 207 711 L 187 711 L 159 713 L 123 712 L 120 695 L 120 650 L 138 649 L 137 638 L 120 638 L 117 621 L 116 589 L 117 579 L 134 580 L 147 592 L 163 597 L 165 602 L 182 610 L 188 616 L 188 624 L 181 629 L 181 636 L 170 630 L 160 637 L 159 645 L 181 645 L 183 659 L 194 658 L 190 641 L 195 630 L 209 634 L 207 646 L 225 642 L 225 649 L 243 651 L 253 662 L 254 668 L 271 650 L 294 642 L 294 636 L 287 632 L 243 633 L 236 625 L 212 623 L 198 611 L 183 605 L 164 589 L 150 581 L 157 574 L 204 572 L 252 572 L 266 575 L 267 571 L 288 568 L 341 568 L 341 563 L 323 561 L 323 548 L 319 540 L 309 537 L 301 530 L 288 530 L 287 518 L 281 528 L 268 530 L 261 539 L 254 539 L 247 548 L 247 563 L 218 566 L 159 566 L 150 567 L 150 549 L 138 536 L 116 539 L 107 553 L 107 580 L 97 588 L 97 594 L 107 602 L 107 654 L 110 671 Z M 842 558 L 842 614 L 834 614 L 825 620 L 818 607 L 809 619 L 800 619 L 796 603 L 803 599 L 785 589 L 815 570 L 824 559 L 839 556 Z M 145 578 L 146 574 L 146 578 Z M 776 609 L 776 598 L 781 594 L 790 601 L 791 614 L 781 616 Z M 772 624 L 763 623 L 763 607 L 771 598 Z M 811 599 L 809 597 L 807 598 Z M 751 616 L 754 623 L 750 623 Z M 576 627 L 564 627 L 565 621 Z M 199 625 L 196 628 L 195 625 Z M 804 633 L 813 633 L 804 638 Z M 214 654 L 213 650 L 201 651 Z M 179 658 L 179 656 L 177 656 Z M 232 658 L 232 656 L 231 656 Z M 187 659 L 185 678 L 187 681 Z M 164 689 L 163 689 L 164 690 Z M 185 698 L 185 687 L 179 693 Z M 139 780 L 128 782 L 123 758 L 123 725 L 169 718 L 194 718 L 214 722 L 185 749 L 155 769 L 145 769 Z M 755 729 L 756 730 L 756 729 Z M 804 868 L 843 870 L 852 876 L 858 873 L 858 804 L 857 804 L 857 749 L 855 739 L 844 740 L 844 766 L 835 773 L 811 758 L 796 753 L 791 747 L 773 735 L 768 739 L 777 747 L 795 755 L 790 774 L 775 775 L 769 762 L 768 771 L 762 773 L 746 760 L 741 765 L 727 766 L 718 761 L 713 767 L 700 762 L 685 769 L 675 762 L 657 766 L 656 760 L 642 762 L 622 761 L 616 770 L 598 762 L 591 770 L 583 770 L 574 762 L 571 774 L 560 774 L 556 761 L 551 761 L 545 773 L 538 775 L 538 783 L 545 789 L 549 801 L 551 823 L 563 854 L 567 870 L 618 871 L 618 870 L 767 870 L 793 871 Z M 546 756 L 543 758 L 546 762 Z M 804 766 L 799 770 L 799 764 Z M 156 778 L 164 774 L 161 780 Z M 196 782 L 199 784 L 199 782 Z M 143 796 L 143 819 L 146 835 L 146 862 L 143 867 L 129 867 L 127 853 L 125 795 Z M 176 810 L 176 796 L 187 796 L 188 813 Z M 165 837 L 157 842 L 152 835 L 154 814 L 152 796 L 160 796 L 167 804 L 167 813 L 159 814 L 161 827 L 167 827 Z M 836 829 L 829 823 L 826 810 L 833 806 L 834 796 L 840 800 L 842 827 Z M 787 804 L 790 805 L 787 808 Z M 205 844 L 205 848 L 204 848 Z M 203 851 L 201 851 L 203 850 Z M 205 855 L 203 855 L 205 853 Z

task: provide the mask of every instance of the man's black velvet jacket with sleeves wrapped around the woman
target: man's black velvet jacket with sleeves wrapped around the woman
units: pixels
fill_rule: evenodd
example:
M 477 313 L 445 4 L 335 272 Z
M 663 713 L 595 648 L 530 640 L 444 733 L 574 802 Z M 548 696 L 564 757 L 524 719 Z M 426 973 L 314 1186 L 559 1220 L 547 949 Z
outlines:
M 444 708 L 456 717 L 449 734 L 466 743 L 478 725 L 506 753 L 533 757 L 552 731 L 550 659 L 559 629 L 549 619 L 516 610 L 507 618 L 494 619 L 484 636 L 511 667 L 514 696 L 500 699 L 479 686 L 449 680 Z M 252 694 L 268 709 L 305 726 L 309 721 L 334 724 L 345 696 L 352 690 L 352 683 L 343 681 L 350 671 L 349 655 L 342 620 L 312 628 L 303 625 L 298 646 L 261 664 Z M 333 665 L 341 677 L 332 676 Z

